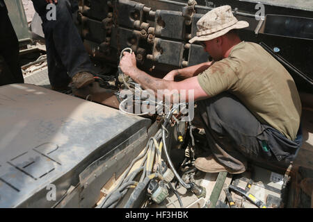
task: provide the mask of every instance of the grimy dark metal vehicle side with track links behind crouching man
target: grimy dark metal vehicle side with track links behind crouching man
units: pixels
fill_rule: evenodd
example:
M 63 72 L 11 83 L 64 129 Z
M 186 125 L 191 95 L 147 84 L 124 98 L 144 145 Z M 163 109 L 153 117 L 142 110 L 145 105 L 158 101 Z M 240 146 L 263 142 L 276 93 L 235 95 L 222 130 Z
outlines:
M 209 60 L 202 46 L 188 40 L 195 35 L 202 15 L 225 4 L 232 6 L 237 19 L 249 22 L 248 28 L 239 31 L 243 40 L 280 49 L 275 53 L 292 61 L 306 76 L 287 67 L 298 88 L 312 90 L 312 62 L 303 64 L 305 55 L 313 53 L 312 9 L 264 3 L 265 19 L 259 20 L 257 1 L 82 0 L 79 29 L 86 49 L 95 58 L 116 65 L 120 51 L 130 47 L 141 69 L 162 75 Z

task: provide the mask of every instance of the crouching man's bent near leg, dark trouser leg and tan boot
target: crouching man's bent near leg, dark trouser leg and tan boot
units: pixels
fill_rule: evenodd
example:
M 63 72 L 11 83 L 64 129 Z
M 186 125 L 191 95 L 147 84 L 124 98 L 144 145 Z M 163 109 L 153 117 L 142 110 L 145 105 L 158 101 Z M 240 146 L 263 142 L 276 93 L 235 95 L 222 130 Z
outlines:
M 212 172 L 214 165 L 216 171 L 242 173 L 248 159 L 266 159 L 260 146 L 264 127 L 235 96 L 219 94 L 200 101 L 199 108 L 213 157 L 198 158 L 198 169 Z

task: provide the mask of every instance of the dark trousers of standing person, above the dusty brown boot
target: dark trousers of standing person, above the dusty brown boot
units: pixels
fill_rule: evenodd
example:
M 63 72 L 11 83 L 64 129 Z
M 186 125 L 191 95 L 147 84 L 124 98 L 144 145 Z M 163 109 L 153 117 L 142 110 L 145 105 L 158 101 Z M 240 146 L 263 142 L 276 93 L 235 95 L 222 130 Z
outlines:
M 69 0 L 58 0 L 56 19 L 48 20 L 51 8 L 44 0 L 32 0 L 42 19 L 47 48 L 48 74 L 51 85 L 62 87 L 80 71 L 93 72 L 93 64 L 72 19 L 73 5 Z M 77 5 L 75 5 L 77 6 Z M 49 17 L 48 16 L 48 17 Z

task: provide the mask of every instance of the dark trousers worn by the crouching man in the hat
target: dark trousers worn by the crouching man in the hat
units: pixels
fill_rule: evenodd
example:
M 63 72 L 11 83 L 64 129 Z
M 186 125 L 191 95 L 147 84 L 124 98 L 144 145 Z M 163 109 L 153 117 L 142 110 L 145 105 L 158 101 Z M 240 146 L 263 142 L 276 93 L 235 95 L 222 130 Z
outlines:
M 291 141 L 278 130 L 260 123 L 229 93 L 198 102 L 207 141 L 216 159 L 225 167 L 239 171 L 247 160 L 287 166 L 302 145 L 299 129 Z

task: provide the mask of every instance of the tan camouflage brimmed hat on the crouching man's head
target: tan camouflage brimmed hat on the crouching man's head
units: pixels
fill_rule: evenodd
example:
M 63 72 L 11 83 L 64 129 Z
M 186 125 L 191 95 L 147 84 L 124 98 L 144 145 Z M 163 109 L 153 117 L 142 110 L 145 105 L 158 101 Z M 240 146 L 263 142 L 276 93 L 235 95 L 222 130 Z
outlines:
M 232 8 L 230 6 L 220 6 L 210 10 L 199 19 L 197 22 L 197 35 L 189 40 L 189 42 L 213 40 L 234 28 L 246 28 L 248 26 L 248 22 L 238 21 L 232 15 Z

